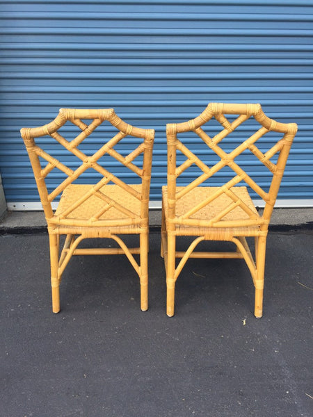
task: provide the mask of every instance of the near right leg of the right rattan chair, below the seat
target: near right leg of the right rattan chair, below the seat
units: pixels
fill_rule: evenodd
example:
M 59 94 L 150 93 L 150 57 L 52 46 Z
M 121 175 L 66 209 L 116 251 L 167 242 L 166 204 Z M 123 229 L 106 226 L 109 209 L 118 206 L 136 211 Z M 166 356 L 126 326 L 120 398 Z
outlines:
M 265 267 L 266 237 L 257 239 L 257 280 L 255 281 L 255 317 L 261 318 L 263 314 L 263 288 Z

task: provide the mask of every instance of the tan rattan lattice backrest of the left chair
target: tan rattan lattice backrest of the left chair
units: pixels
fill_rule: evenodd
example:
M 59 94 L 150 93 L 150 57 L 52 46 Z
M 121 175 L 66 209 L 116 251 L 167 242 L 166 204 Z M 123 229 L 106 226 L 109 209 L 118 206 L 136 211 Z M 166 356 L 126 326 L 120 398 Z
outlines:
M 86 124 L 83 120 L 92 120 L 92 122 L 90 122 L 90 124 Z M 72 124 L 81 130 L 81 132 L 72 140 L 65 139 L 61 133 L 58 132 L 58 130 L 61 129 L 67 121 L 72 122 Z M 97 129 L 97 127 L 104 121 L 108 121 L 115 126 L 115 128 L 118 129 L 118 133 L 105 143 L 102 142 L 99 149 L 97 149 L 93 155 L 88 156 L 79 149 L 79 145 L 81 145 L 81 143 L 86 140 L 86 138 L 88 138 L 91 133 L 93 133 L 93 131 L 95 131 L 95 129 Z M 90 197 L 95 196 L 102 200 L 103 206 L 97 213 L 93 213 L 92 218 L 88 220 L 97 222 L 97 220 L 99 220 L 99 218 L 111 207 L 114 207 L 120 213 L 123 213 L 124 217 L 126 215 L 130 219 L 138 220 L 138 215 L 127 208 L 126 202 L 125 205 L 120 202 L 116 202 L 115 199 L 109 197 L 103 192 L 103 187 L 109 183 L 114 183 L 116 186 L 129 193 L 129 195 L 136 198 L 141 204 L 140 218 L 147 218 L 147 202 L 149 200 L 150 190 L 154 130 L 139 129 L 123 122 L 120 117 L 115 114 L 113 109 L 83 110 L 61 108 L 58 116 L 51 123 L 37 128 L 23 128 L 21 129 L 21 134 L 29 153 L 31 165 L 35 174 L 35 181 L 38 186 L 40 199 L 47 219 L 54 216 L 54 212 L 51 208 L 51 202 L 53 202 L 58 195 L 63 193 L 68 186 L 79 179 L 79 177 L 81 177 L 83 173 L 90 168 L 93 168 L 97 174 L 100 174 L 101 179 L 97 181 L 92 188 L 88 188 L 86 193 L 81 195 L 77 201 L 70 204 L 70 206 L 63 211 L 63 213 L 59 213 L 59 218 L 64 219 L 67 215 L 77 209 L 77 207 L 85 203 Z M 72 170 L 70 167 L 67 167 L 61 161 L 54 158 L 54 156 L 51 156 L 51 154 L 45 152 L 45 150 L 36 145 L 34 139 L 42 136 L 50 136 L 62 145 L 62 147 L 67 149 L 67 151 L 69 151 L 72 155 L 77 157 L 80 163 L 79 167 Z M 117 152 L 114 147 L 126 136 L 142 138 L 143 141 L 130 154 L 122 156 L 122 154 Z M 142 167 L 139 167 L 136 163 L 134 163 L 134 161 L 141 154 L 143 154 L 143 163 Z M 125 181 L 122 181 L 122 179 L 118 176 L 107 170 L 99 161 L 100 158 L 105 155 L 111 156 L 116 161 L 134 172 L 134 174 L 141 179 L 141 191 L 129 186 L 125 183 Z M 47 165 L 45 167 L 42 167 L 40 158 L 47 161 Z M 67 177 L 61 181 L 61 183 L 59 183 L 54 190 L 48 193 L 45 179 L 55 168 L 63 172 Z M 138 222 L 140 221 L 140 218 Z

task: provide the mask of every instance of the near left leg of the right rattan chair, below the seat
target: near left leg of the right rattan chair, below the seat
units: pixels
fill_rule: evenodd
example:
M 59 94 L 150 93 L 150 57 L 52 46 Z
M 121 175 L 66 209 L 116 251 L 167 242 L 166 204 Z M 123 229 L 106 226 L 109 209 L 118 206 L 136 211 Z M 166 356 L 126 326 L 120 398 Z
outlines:
M 168 267 L 166 272 L 166 314 L 168 317 L 174 316 L 175 306 L 175 247 L 176 236 L 168 235 Z

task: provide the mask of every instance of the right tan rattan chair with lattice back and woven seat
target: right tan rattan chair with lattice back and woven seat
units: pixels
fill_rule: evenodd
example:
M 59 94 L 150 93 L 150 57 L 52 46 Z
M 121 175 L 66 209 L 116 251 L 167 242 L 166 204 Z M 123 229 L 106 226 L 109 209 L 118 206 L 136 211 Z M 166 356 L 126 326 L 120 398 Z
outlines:
M 225 115 L 239 116 L 230 122 Z M 244 138 L 243 141 L 240 140 L 241 144 L 238 147 L 231 152 L 225 152 L 220 141 L 251 116 L 261 126 L 252 136 Z M 218 126 L 222 125 L 222 130 L 211 138 L 201 126 L 209 122 L 212 117 L 216 119 L 215 123 Z M 250 123 L 256 122 L 250 120 Z M 209 167 L 177 138 L 179 133 L 188 131 L 193 131 L 200 136 L 215 158 L 217 156 L 215 164 Z M 255 142 L 269 131 L 272 131 L 271 135 L 274 135 L 273 132 L 284 133 L 284 135 L 280 135 L 280 140 L 275 145 L 270 145 L 270 149 L 266 148 L 268 150 L 262 152 Z M 294 123 L 282 124 L 266 117 L 259 104 L 211 103 L 195 119 L 167 125 L 168 186 L 163 187 L 161 255 L 166 265 L 168 316 L 174 315 L 175 281 L 188 258 L 243 258 L 255 285 L 255 316 L 262 317 L 268 223 L 296 131 L 297 125 Z M 185 161 L 179 166 L 176 163 L 177 151 L 186 156 Z M 262 184 L 261 186 L 257 184 L 256 180 L 241 168 L 242 159 L 236 161 L 236 158 L 244 151 L 254 154 L 257 158 L 256 162 L 259 165 L 263 164 L 262 166 L 268 168 L 273 175 L 268 191 L 264 190 Z M 274 162 L 271 161 L 273 157 Z M 179 175 L 193 164 L 201 170 L 199 177 L 191 181 L 188 186 L 177 186 Z M 203 186 L 203 182 L 207 179 L 213 181 L 211 177 L 223 167 L 227 167 L 229 171 L 232 170 L 233 176 L 230 181 L 223 186 Z M 236 186 L 241 181 L 244 181 L 264 200 L 265 208 L 262 215 L 259 215 L 252 203 L 248 188 Z M 175 249 L 177 236 L 197 237 L 186 252 L 177 252 Z M 248 236 L 255 237 L 255 259 L 246 241 Z M 202 240 L 228 240 L 236 245 L 236 252 L 193 252 Z M 182 258 L 177 266 L 175 258 Z

